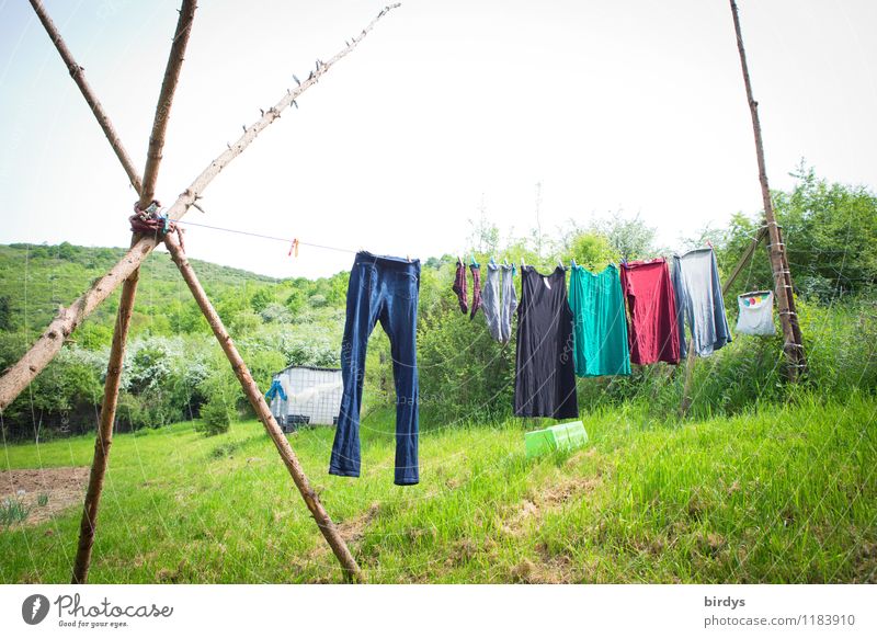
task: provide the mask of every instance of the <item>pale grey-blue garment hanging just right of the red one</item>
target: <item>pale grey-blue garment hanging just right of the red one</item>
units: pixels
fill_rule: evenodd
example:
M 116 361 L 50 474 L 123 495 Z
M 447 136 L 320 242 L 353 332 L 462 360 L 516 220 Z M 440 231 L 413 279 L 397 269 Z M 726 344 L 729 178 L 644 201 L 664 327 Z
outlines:
M 731 342 L 731 330 L 725 314 L 725 299 L 719 281 L 719 266 L 713 248 L 691 250 L 673 257 L 673 290 L 679 306 L 679 350 L 687 356 L 685 322 L 694 340 L 697 356 L 709 356 Z

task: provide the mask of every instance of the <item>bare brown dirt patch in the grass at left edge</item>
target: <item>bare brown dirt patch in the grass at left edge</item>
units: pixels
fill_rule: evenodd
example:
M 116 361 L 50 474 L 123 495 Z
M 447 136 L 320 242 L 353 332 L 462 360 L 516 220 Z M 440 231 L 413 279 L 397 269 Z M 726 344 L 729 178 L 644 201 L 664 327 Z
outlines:
M 30 508 L 24 522 L 14 525 L 38 525 L 68 508 L 82 506 L 88 481 L 88 467 L 4 470 L 0 471 L 0 502 L 10 499 Z

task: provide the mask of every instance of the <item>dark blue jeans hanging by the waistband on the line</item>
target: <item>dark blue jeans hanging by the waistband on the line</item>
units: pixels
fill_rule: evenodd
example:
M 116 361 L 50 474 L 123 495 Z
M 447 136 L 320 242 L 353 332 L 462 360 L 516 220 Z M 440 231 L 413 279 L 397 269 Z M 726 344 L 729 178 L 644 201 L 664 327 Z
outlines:
M 329 474 L 360 476 L 360 408 L 368 335 L 380 321 L 390 340 L 396 381 L 396 476 L 417 483 L 418 364 L 417 322 L 420 261 L 357 252 L 348 285 L 348 318 L 341 344 L 344 394 L 332 445 Z

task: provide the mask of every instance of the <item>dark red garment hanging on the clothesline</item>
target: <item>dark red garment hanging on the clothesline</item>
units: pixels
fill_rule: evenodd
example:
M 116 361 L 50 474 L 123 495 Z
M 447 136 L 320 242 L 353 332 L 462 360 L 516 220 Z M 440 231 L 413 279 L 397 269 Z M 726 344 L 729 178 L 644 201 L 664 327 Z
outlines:
M 623 263 L 620 278 L 630 315 L 630 363 L 679 363 L 676 299 L 667 260 Z

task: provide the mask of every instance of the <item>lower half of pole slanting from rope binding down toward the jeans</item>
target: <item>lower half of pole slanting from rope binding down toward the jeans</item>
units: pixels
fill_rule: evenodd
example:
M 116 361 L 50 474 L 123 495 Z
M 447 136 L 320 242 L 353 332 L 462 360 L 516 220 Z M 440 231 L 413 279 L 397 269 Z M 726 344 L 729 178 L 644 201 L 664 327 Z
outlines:
M 255 410 L 255 414 L 259 417 L 262 425 L 265 426 L 265 431 L 267 432 L 269 436 L 271 436 L 271 440 L 274 442 L 281 458 L 283 458 L 286 469 L 289 470 L 293 481 L 295 481 L 298 491 L 301 493 L 301 498 L 305 499 L 308 510 L 310 510 L 311 514 L 314 514 L 314 519 L 317 521 L 320 532 L 322 532 L 322 535 L 326 537 L 326 540 L 329 543 L 329 546 L 332 548 L 332 551 L 334 552 L 339 562 L 341 562 L 341 567 L 344 571 L 344 578 L 346 580 L 361 581 L 362 572 L 360 571 L 360 567 L 356 565 L 353 555 L 350 552 L 348 544 L 338 533 L 332 520 L 323 509 L 322 503 L 320 503 L 319 497 L 310 487 L 308 478 L 305 475 L 305 470 L 301 468 L 295 452 L 293 452 L 293 448 L 289 445 L 289 441 L 283 434 L 280 425 L 277 425 L 274 415 L 271 413 L 271 409 L 265 402 L 265 398 L 262 396 L 261 390 L 253 380 L 247 364 L 240 356 L 240 353 L 238 353 L 238 349 L 235 346 L 235 342 L 231 341 L 231 337 L 228 334 L 228 331 L 223 324 L 223 320 L 219 318 L 219 315 L 214 309 L 213 304 L 210 304 L 207 294 L 201 286 L 201 282 L 198 282 L 197 275 L 195 275 L 195 271 L 189 263 L 189 260 L 186 259 L 178 239 L 173 235 L 168 235 L 164 237 L 164 246 L 168 247 L 168 251 L 171 253 L 173 262 L 176 264 L 176 267 L 180 269 L 189 289 L 195 297 L 195 301 L 197 301 L 201 311 L 204 314 L 204 317 L 210 324 L 210 329 L 216 335 L 216 339 L 219 341 L 223 352 L 226 353 L 226 356 L 231 364 L 231 368 L 235 371 L 235 375 L 238 377 L 238 380 L 243 388 L 243 392 L 250 400 L 250 405 L 253 407 L 253 410 Z

